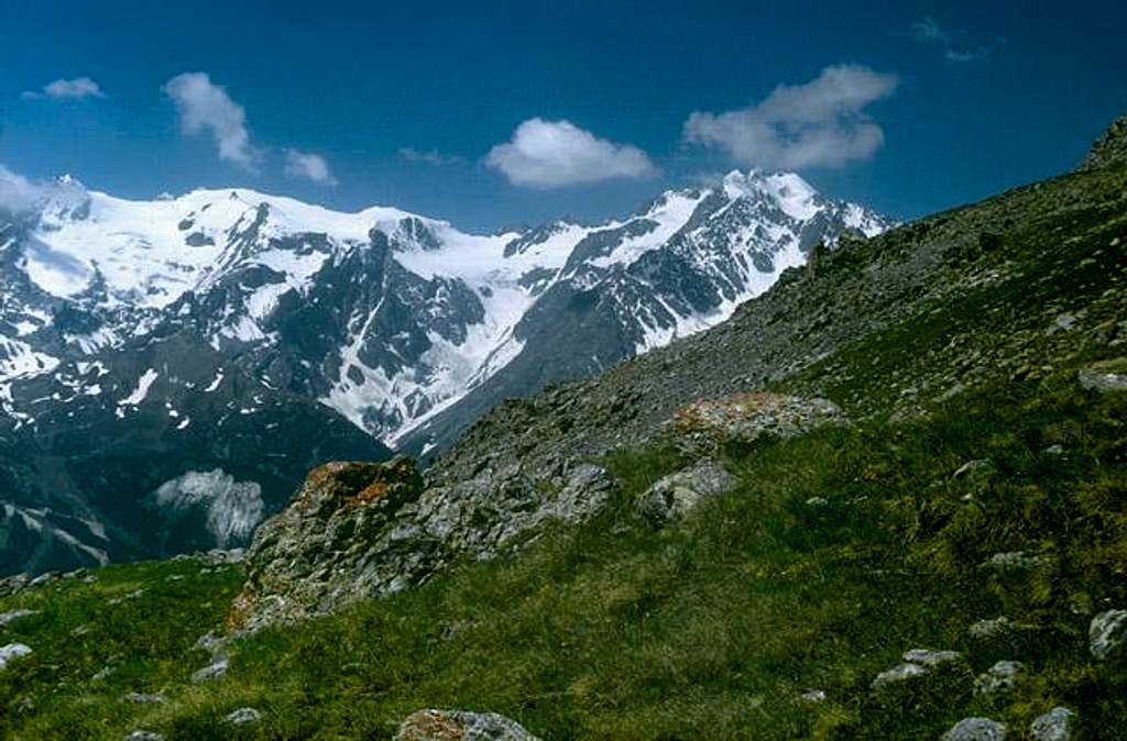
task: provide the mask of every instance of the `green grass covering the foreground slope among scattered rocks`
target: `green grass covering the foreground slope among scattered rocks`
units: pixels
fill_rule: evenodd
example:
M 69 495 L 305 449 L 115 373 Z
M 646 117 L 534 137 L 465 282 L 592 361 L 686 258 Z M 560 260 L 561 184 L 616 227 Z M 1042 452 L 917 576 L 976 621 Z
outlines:
M 192 646 L 220 622 L 240 570 L 99 570 L 92 584 L 0 600 L 43 610 L 0 628 L 0 642 L 34 650 L 0 672 L 0 733 L 389 738 L 438 706 L 499 712 L 545 739 L 938 738 L 969 714 L 1024 729 L 1063 703 L 1088 738 L 1113 738 L 1127 722 L 1125 672 L 1093 662 L 1085 636 L 1092 611 L 1127 605 L 1125 420 L 1124 394 L 1085 393 L 1063 372 L 994 386 L 908 425 L 728 450 L 738 489 L 665 529 L 630 502 L 684 461 L 619 452 L 605 462 L 615 503 L 598 520 L 512 561 L 265 631 L 204 685 L 188 681 L 207 663 Z M 991 470 L 952 480 L 976 458 Z M 1015 574 L 978 566 L 1015 550 L 1049 560 Z M 999 615 L 1031 627 L 968 637 Z M 873 696 L 872 678 L 912 648 L 962 651 L 970 668 Z M 973 698 L 973 673 L 999 659 L 1026 662 L 1026 681 L 1003 700 Z M 827 702 L 800 699 L 809 689 Z M 123 703 L 127 691 L 167 702 Z M 223 723 L 246 705 L 264 721 Z

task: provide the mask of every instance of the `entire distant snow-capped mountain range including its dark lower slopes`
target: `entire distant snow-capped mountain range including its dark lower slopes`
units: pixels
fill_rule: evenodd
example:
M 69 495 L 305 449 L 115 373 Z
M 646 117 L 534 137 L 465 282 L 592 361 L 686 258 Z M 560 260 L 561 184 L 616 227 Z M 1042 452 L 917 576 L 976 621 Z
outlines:
M 60 179 L 0 212 L 2 511 L 55 534 L 46 561 L 239 542 L 311 463 L 442 447 L 495 401 L 711 327 L 819 240 L 886 225 L 754 171 L 495 235 Z

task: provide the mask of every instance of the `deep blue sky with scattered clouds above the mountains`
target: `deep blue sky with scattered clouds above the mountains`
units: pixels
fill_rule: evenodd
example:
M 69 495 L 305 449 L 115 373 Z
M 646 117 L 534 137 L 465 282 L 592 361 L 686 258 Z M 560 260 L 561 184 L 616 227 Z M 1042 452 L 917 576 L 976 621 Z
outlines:
M 1074 167 L 1125 38 L 1110 0 L 0 0 L 0 176 L 487 232 L 760 168 L 911 218 Z

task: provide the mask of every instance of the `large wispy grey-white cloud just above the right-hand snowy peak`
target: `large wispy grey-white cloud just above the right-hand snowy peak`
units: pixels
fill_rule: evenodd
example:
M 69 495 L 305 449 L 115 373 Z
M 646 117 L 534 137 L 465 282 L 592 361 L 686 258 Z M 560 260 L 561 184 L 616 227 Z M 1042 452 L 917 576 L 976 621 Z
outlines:
M 896 75 L 866 66 L 827 66 L 817 79 L 781 84 L 748 108 L 692 114 L 684 141 L 762 168 L 844 167 L 869 159 L 884 144 L 884 130 L 864 109 L 896 86 Z

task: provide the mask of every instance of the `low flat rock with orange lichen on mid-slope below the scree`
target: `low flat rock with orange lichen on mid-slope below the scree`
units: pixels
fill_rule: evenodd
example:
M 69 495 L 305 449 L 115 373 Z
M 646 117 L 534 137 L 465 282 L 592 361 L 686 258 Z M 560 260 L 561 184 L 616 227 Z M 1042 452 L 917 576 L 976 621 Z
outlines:
M 756 392 L 693 402 L 673 416 L 667 429 L 684 447 L 710 449 L 762 437 L 797 437 L 845 421 L 841 408 L 826 399 Z

